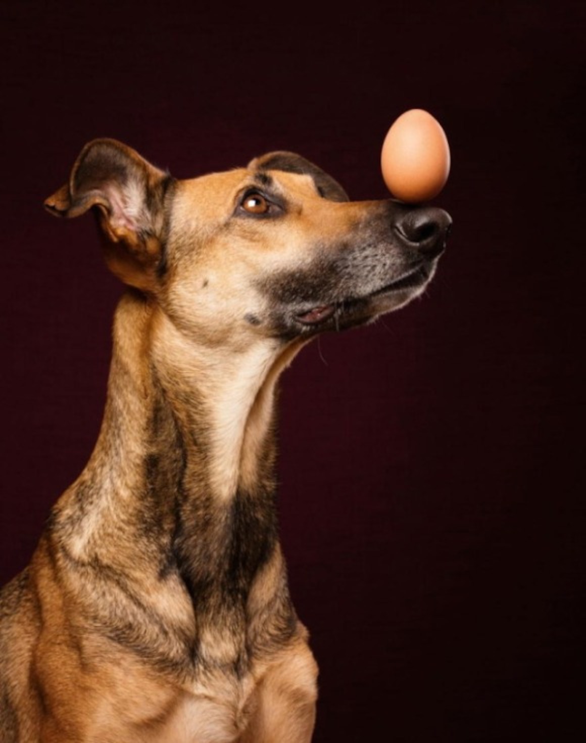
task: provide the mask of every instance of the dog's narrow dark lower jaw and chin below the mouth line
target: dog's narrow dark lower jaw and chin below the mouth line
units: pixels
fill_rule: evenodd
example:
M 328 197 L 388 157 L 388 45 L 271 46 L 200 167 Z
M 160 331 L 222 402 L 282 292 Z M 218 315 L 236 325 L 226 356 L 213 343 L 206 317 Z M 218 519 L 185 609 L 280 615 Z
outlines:
M 435 263 L 422 264 L 370 293 L 348 296 L 333 302 L 317 303 L 289 316 L 290 330 L 297 334 L 346 330 L 371 322 L 382 314 L 397 310 L 420 296 L 435 272 Z

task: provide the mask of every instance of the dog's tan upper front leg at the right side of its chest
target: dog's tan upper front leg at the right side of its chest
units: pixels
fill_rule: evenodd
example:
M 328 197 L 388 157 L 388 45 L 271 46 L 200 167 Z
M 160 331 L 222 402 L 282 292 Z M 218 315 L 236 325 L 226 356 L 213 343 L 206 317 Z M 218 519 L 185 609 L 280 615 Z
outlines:
M 268 669 L 238 743 L 310 743 L 316 719 L 317 664 L 300 640 Z

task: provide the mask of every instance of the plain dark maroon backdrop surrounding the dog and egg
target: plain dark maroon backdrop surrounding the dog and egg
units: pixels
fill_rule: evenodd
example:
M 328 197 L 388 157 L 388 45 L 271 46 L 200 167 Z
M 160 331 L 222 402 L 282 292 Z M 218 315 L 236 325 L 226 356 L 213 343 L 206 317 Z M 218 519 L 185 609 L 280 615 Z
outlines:
M 41 207 L 82 145 L 117 137 L 179 177 L 293 149 L 385 198 L 382 138 L 427 108 L 453 162 L 437 279 L 283 380 L 315 740 L 582 739 L 581 6 L 4 2 L 1 580 L 100 424 L 120 286 L 93 221 Z

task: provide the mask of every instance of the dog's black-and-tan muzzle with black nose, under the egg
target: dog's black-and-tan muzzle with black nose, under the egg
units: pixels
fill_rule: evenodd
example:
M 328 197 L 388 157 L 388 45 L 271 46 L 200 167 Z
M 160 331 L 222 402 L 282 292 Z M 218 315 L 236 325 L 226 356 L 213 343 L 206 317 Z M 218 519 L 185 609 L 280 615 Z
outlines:
M 338 242 L 320 246 L 303 270 L 264 282 L 282 337 L 359 325 L 403 306 L 432 278 L 452 227 L 438 207 L 389 199 L 362 207 Z

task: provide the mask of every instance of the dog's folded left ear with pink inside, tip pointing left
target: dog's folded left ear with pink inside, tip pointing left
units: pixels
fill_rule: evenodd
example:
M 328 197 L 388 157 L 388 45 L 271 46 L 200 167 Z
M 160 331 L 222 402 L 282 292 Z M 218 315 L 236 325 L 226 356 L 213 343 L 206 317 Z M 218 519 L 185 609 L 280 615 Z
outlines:
M 85 145 L 68 183 L 45 207 L 61 217 L 96 207 L 108 267 L 123 282 L 150 291 L 163 259 L 164 201 L 172 182 L 131 147 L 99 139 Z

